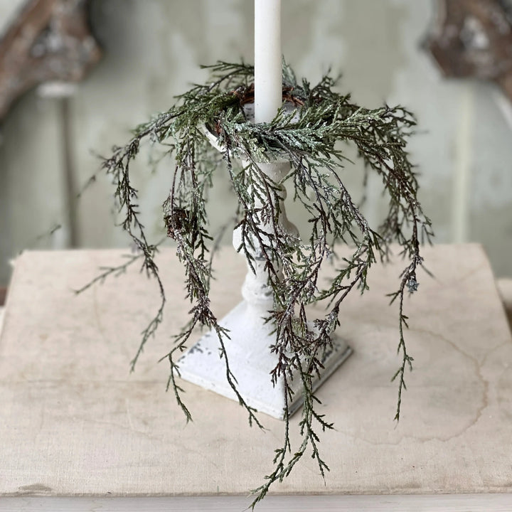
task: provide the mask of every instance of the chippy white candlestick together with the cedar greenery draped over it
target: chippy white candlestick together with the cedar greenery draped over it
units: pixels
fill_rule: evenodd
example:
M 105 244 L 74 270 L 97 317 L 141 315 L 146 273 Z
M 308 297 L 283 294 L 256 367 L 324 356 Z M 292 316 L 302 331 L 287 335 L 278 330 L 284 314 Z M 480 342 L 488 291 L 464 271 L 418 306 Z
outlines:
M 430 239 L 430 221 L 417 200 L 418 183 L 406 150 L 415 126 L 410 112 L 388 105 L 366 109 L 350 95 L 336 92 L 336 81 L 329 75 L 311 85 L 297 80 L 284 63 L 285 107 L 271 122 L 254 123 L 248 114 L 254 103 L 254 68 L 218 63 L 210 73 L 206 84 L 194 85 L 174 107 L 137 127 L 134 137 L 104 160 L 125 214 L 122 227 L 140 253 L 96 280 L 142 258 L 142 270 L 159 285 L 161 304 L 143 331 L 134 368 L 162 321 L 167 299 L 156 265 L 158 245 L 149 242 L 140 221 L 130 174 L 142 143 L 149 142 L 175 159 L 163 217 L 184 267 L 186 299 L 191 302 L 188 322 L 162 358 L 169 361 L 168 387 L 187 419 L 191 415 L 180 375 L 235 397 L 251 424 L 262 426 L 255 410 L 284 419 L 283 444 L 276 450 L 274 470 L 256 489 L 258 501 L 274 482 L 288 476 L 306 449 L 324 473 L 317 432 L 333 425 L 317 412 L 316 388 L 350 353 L 334 334 L 346 297 L 368 289 L 371 268 L 390 258 L 393 242 L 407 260 L 397 289 L 390 290 L 398 314 L 400 357 L 393 378 L 398 382 L 397 420 L 400 417 L 405 370 L 412 368 L 405 343 L 404 297 L 417 290 L 420 240 Z M 378 228 L 368 223 L 343 181 L 345 167 L 351 165 L 343 144 L 353 146 L 366 172 L 382 180 L 389 210 Z M 245 256 L 249 270 L 242 287 L 244 301 L 218 319 L 209 297 L 217 244 L 210 234 L 206 202 L 215 178 L 226 172 L 239 204 L 233 245 Z M 284 184 L 309 221 L 302 240 L 287 219 Z M 345 257 L 336 259 L 339 244 L 349 248 L 343 251 Z M 334 265 L 329 272 L 334 278 L 324 283 L 321 270 L 328 262 Z M 321 305 L 324 313 L 311 312 L 311 306 L 319 311 Z M 201 326 L 210 333 L 191 343 Z M 300 440 L 292 447 L 290 417 L 301 400 Z

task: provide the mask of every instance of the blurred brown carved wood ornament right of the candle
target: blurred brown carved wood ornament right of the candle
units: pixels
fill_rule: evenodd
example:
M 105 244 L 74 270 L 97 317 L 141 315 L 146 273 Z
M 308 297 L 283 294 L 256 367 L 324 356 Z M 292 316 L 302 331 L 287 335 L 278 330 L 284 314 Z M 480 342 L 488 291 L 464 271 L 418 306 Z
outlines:
M 511 0 L 437 0 L 427 47 L 447 77 L 494 80 L 512 100 Z

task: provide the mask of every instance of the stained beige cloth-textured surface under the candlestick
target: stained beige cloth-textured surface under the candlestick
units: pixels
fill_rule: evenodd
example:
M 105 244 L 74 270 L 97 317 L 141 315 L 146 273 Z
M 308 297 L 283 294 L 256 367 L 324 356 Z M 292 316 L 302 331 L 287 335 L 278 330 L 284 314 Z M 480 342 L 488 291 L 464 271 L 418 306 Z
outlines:
M 190 309 L 174 251 L 159 254 L 169 290 L 164 324 L 132 375 L 139 333 L 158 306 L 155 283 L 136 265 L 73 297 L 97 267 L 123 254 L 26 252 L 16 260 L 0 337 L 0 503 L 34 495 L 246 496 L 270 470 L 282 422 L 260 415 L 267 430 L 250 428 L 232 400 L 182 383 L 194 417 L 186 425 L 165 392 L 168 366 L 156 361 Z M 423 274 L 406 301 L 415 369 L 400 423 L 390 383 L 399 364 L 397 306 L 385 297 L 403 267 L 398 259 L 376 267 L 370 290 L 343 304 L 340 334 L 354 353 L 318 393 L 319 411 L 335 425 L 321 433 L 326 484 L 304 457 L 274 493 L 512 492 L 512 338 L 489 262 L 478 245 L 425 247 L 425 260 L 435 278 Z M 222 316 L 238 302 L 246 268 L 233 249 L 218 262 L 211 299 Z M 299 420 L 292 418 L 292 449 Z

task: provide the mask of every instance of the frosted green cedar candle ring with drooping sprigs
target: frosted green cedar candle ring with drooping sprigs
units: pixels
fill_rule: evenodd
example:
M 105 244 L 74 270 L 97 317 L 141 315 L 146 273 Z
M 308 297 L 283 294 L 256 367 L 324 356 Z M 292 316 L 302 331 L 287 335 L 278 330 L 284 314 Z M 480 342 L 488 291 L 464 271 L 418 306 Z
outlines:
M 432 235 L 430 221 L 417 201 L 417 179 L 405 151 L 406 139 L 415 126 L 412 114 L 402 107 L 387 105 L 375 110 L 359 107 L 351 102 L 350 95 L 334 91 L 336 80 L 329 75 L 311 86 L 306 80 L 299 82 L 292 69 L 285 63 L 283 66 L 283 100 L 287 107 L 279 110 L 272 122 L 254 124 L 247 119 L 244 106 L 254 98 L 254 68 L 245 63 L 219 62 L 208 67 L 210 82 L 193 86 L 178 97 L 176 106 L 141 124 L 128 144 L 114 147 L 112 156 L 102 163 L 102 169 L 112 178 L 114 197 L 124 215 L 122 228 L 140 252 L 123 265 L 106 269 L 96 280 L 123 272 L 128 265 L 142 260 L 143 270 L 156 279 L 161 294 L 161 305 L 142 334 L 132 369 L 144 344 L 161 323 L 166 302 L 155 262 L 159 244 L 151 244 L 146 238 L 139 218 L 137 189 L 130 176 L 130 165 L 139 154 L 142 142 L 149 142 L 161 146 L 164 154 L 172 154 L 176 161 L 163 216 L 168 235 L 176 241 L 179 260 L 186 270 L 187 297 L 192 304 L 188 323 L 164 356 L 170 365 L 167 388 L 174 391 L 186 419 L 190 420 L 176 379 L 179 375 L 176 356 L 186 349 L 197 326 L 207 326 L 218 335 L 228 382 L 240 405 L 245 407 L 250 424 L 262 427 L 256 411 L 238 393 L 236 376 L 230 370 L 225 353 L 224 341 L 228 333 L 218 323 L 208 298 L 217 242 L 208 231 L 206 192 L 213 186 L 215 175 L 222 172 L 221 169 L 228 170 L 239 203 L 236 215 L 242 243 L 238 251 L 245 254 L 251 266 L 255 252 L 264 259 L 274 296 L 274 310 L 269 320 L 275 326 L 276 341 L 271 349 L 278 356 L 278 364 L 270 378 L 274 382 L 284 379 L 289 398 L 293 393 L 292 375 L 298 374 L 304 395 L 299 422 L 302 443 L 292 449 L 289 412 L 285 411 L 284 442 L 275 452 L 272 472 L 254 491 L 252 507 L 274 482 L 290 474 L 307 449 L 311 450 L 322 476 L 329 470 L 319 452 L 317 432 L 331 429 L 332 425 L 316 412 L 319 400 L 312 390 L 314 375 L 321 373 L 321 354 L 331 345 L 330 336 L 339 324 L 343 300 L 354 289 L 361 293 L 368 289 L 368 270 L 377 260 L 388 260 L 391 242 L 398 242 L 402 256 L 407 259 L 398 290 L 391 294 L 391 302 L 399 303 L 401 362 L 393 376 L 393 380 L 398 381 L 395 419 L 399 420 L 405 369 L 412 368 L 412 357 L 404 338 L 407 316 L 403 301 L 405 293 L 414 292 L 418 286 L 416 272 L 422 264 L 420 242 L 430 240 Z M 218 137 L 222 153 L 210 145 L 203 134 L 204 127 Z M 350 161 L 339 142 L 355 146 L 366 172 L 374 171 L 382 179 L 389 208 L 378 228 L 370 227 L 341 180 L 339 171 Z M 247 161 L 245 167 L 238 164 L 239 157 Z M 311 235 L 308 240 L 298 240 L 279 225 L 282 183 L 274 183 L 259 164 L 277 158 L 291 163 L 291 171 L 283 181 L 291 183 L 294 201 L 302 203 L 309 216 Z M 258 206 L 260 204 L 263 206 Z M 265 228 L 269 224 L 273 226 L 272 233 Z M 337 242 L 351 245 L 352 255 L 343 259 L 330 286 L 321 289 L 319 272 Z M 327 303 L 326 315 L 309 319 L 306 306 L 319 301 Z

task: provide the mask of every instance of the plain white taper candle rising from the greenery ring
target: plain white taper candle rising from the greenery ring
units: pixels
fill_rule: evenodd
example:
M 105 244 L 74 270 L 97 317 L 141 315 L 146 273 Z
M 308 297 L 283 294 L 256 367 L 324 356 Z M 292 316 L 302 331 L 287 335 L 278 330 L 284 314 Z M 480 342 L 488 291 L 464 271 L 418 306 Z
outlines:
M 255 122 L 282 105 L 281 0 L 255 0 Z

